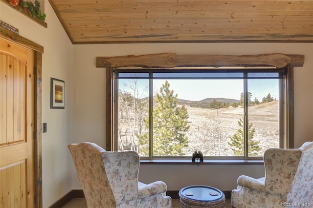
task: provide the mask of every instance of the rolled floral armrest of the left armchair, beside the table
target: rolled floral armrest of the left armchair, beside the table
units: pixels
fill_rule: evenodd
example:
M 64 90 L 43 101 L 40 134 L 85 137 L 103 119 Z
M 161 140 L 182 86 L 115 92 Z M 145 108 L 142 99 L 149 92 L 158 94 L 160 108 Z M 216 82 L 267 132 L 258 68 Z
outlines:
M 138 198 L 145 198 L 153 196 L 159 193 L 164 193 L 167 190 L 167 186 L 163 181 L 156 181 L 151 184 L 138 188 Z

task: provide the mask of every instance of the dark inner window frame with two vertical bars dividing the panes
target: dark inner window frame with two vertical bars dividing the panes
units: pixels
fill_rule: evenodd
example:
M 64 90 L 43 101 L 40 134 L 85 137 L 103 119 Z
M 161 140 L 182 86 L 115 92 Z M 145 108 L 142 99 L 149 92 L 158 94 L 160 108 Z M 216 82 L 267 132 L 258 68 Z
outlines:
M 165 72 L 164 72 L 165 71 Z M 126 76 L 129 73 L 129 76 Z M 157 74 L 161 73 L 162 75 L 157 76 Z M 179 75 L 169 75 L 166 76 L 167 74 L 170 73 L 175 73 L 175 74 L 183 74 L 183 76 L 179 76 Z M 227 74 L 229 73 L 230 75 L 228 76 L 207 76 L 206 73 L 223 73 L 223 74 Z M 234 76 L 235 73 L 238 73 L 238 75 L 240 76 Z M 254 76 L 249 76 L 249 73 L 277 73 L 277 77 L 264 77 L 264 76 L 258 76 L 258 77 L 254 77 Z M 247 103 L 247 94 L 248 94 L 248 80 L 278 80 L 278 87 L 279 87 L 279 105 L 282 106 L 283 104 L 283 80 L 285 77 L 285 73 L 286 73 L 286 67 L 283 68 L 276 68 L 276 67 L 220 67 L 220 68 L 214 68 L 214 67 L 201 67 L 201 69 L 199 68 L 193 68 L 190 69 L 190 67 L 184 67 L 184 68 L 176 68 L 176 69 L 172 69 L 172 68 L 168 68 L 168 69 L 150 69 L 150 68 L 113 68 L 113 86 L 114 86 L 114 92 L 115 94 L 113 94 L 113 97 L 116 98 L 116 100 L 114 100 L 114 104 L 116 104 L 114 106 L 114 108 L 117 108 L 118 105 L 118 91 L 119 91 L 119 85 L 118 85 L 118 80 L 129 80 L 129 79 L 134 79 L 134 80 L 148 80 L 149 81 L 149 109 L 150 112 L 149 114 L 152 115 L 152 108 L 153 108 L 153 99 L 151 99 L 154 95 L 152 92 L 152 82 L 153 80 L 157 80 L 157 79 L 166 79 L 166 80 L 175 80 L 175 79 L 184 79 L 184 80 L 199 80 L 199 79 L 204 79 L 204 80 L 232 80 L 232 79 L 236 79 L 236 80 L 242 80 L 243 81 L 243 85 L 244 85 L 244 128 L 245 128 L 245 146 L 244 146 L 244 155 L 243 156 L 203 156 L 205 159 L 226 159 L 226 160 L 262 160 L 263 157 L 261 156 L 249 156 L 248 155 L 248 143 L 247 143 L 247 137 L 248 137 L 248 124 L 247 124 L 247 120 L 249 117 L 249 112 L 248 112 L 248 103 Z M 120 74 L 122 76 L 120 76 Z M 142 76 L 142 74 L 144 74 L 145 76 Z M 198 77 L 193 77 L 193 76 L 188 76 L 188 74 L 191 75 L 195 75 L 195 74 L 203 74 L 202 76 L 198 76 Z M 280 107 L 279 106 L 279 107 Z M 116 109 L 116 111 L 112 112 L 113 116 L 114 116 L 114 121 L 118 121 L 118 110 Z M 279 108 L 279 126 L 280 129 L 283 125 L 283 110 L 282 108 Z M 159 159 L 183 159 L 183 158 L 190 158 L 190 156 L 154 156 L 152 149 L 153 149 L 153 131 L 151 130 L 153 124 L 152 124 L 152 117 L 149 117 L 150 120 L 150 139 L 149 139 L 149 155 L 148 156 L 141 156 L 141 159 L 144 160 L 159 160 Z M 118 128 L 118 124 L 117 122 L 115 122 L 114 128 L 117 129 Z M 281 132 L 280 132 L 281 133 Z M 118 135 L 114 134 L 113 140 L 114 140 L 114 151 L 118 151 Z M 151 140 L 152 139 L 152 140 Z M 283 146 L 283 134 L 279 134 L 279 148 L 282 148 Z

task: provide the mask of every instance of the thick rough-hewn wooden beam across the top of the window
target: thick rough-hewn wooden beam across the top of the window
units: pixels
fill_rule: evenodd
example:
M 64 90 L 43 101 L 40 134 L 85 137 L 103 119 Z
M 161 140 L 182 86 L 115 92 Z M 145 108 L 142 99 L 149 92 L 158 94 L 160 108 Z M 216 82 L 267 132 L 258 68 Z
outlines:
M 148 67 L 172 68 L 182 66 L 303 66 L 304 55 L 178 55 L 175 53 L 141 56 L 96 57 L 97 67 Z

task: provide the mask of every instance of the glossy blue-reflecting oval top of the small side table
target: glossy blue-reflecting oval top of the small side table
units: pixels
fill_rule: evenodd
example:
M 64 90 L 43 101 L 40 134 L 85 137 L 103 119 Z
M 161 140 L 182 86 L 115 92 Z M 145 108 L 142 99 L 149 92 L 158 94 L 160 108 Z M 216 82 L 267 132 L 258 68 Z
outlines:
M 208 186 L 189 186 L 179 190 L 180 198 L 187 198 L 195 201 L 214 202 L 224 197 L 224 193 Z

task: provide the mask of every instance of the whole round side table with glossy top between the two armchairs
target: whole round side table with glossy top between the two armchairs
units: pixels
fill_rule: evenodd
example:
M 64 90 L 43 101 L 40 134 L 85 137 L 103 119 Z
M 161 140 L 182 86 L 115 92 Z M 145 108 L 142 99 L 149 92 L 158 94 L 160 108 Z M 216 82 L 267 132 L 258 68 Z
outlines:
M 224 208 L 225 195 L 208 186 L 189 186 L 179 190 L 182 208 Z

